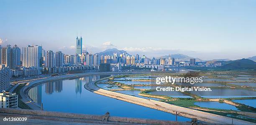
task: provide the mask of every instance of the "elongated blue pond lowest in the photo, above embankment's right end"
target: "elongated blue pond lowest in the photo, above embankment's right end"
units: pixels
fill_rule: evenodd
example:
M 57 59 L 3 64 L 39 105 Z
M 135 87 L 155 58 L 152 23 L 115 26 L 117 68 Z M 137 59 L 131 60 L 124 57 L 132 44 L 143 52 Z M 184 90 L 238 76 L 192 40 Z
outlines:
M 236 106 L 229 105 L 227 103 L 219 103 L 219 102 L 195 102 L 195 105 L 206 108 L 218 108 L 218 109 L 227 109 L 227 110 L 238 110 Z

